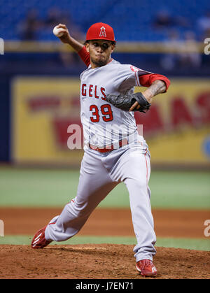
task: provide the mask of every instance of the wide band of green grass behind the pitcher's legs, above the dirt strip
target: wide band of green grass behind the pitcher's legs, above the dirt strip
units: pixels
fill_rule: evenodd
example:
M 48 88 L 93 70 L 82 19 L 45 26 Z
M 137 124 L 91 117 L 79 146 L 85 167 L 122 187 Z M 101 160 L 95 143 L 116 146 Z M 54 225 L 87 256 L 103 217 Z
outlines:
M 153 208 L 210 208 L 209 172 L 152 171 Z M 79 171 L 0 167 L 0 206 L 62 207 L 76 196 Z M 102 208 L 129 207 L 123 183 L 100 203 Z

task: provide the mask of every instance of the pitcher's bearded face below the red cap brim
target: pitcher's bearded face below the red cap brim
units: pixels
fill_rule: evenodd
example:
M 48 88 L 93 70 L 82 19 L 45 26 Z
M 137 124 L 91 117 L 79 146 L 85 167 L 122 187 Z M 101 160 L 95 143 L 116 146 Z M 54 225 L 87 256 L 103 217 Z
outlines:
M 87 52 L 90 52 L 92 68 L 106 65 L 114 48 L 115 45 L 106 40 L 92 40 L 86 43 Z

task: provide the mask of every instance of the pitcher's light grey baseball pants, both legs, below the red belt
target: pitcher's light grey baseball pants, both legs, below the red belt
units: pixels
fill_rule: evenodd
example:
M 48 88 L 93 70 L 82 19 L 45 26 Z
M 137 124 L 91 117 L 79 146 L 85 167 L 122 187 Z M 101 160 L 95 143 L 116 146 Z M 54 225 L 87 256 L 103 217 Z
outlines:
M 130 196 L 130 208 L 137 245 L 134 257 L 153 260 L 156 236 L 151 213 L 150 154 L 146 143 L 134 143 L 111 152 L 85 150 L 80 168 L 76 197 L 45 229 L 45 238 L 65 241 L 80 231 L 98 204 L 118 183 L 124 182 Z M 114 224 L 114 223 L 113 223 Z

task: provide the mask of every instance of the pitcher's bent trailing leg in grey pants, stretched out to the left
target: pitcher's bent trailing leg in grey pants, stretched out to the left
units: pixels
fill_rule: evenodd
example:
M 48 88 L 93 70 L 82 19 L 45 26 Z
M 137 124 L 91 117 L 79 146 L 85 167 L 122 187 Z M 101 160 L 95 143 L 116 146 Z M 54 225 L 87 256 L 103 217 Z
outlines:
M 45 229 L 45 238 L 64 241 L 78 233 L 92 210 L 115 186 L 99 160 L 86 155 L 80 170 L 77 196 L 66 204 L 59 217 L 54 218 L 54 223 L 50 221 Z

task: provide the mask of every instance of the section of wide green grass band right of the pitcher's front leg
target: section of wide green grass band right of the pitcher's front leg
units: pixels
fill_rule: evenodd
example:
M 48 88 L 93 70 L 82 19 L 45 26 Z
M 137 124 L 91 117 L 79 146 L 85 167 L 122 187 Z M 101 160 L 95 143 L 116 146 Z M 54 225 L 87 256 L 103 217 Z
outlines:
M 209 172 L 153 172 L 150 187 L 155 208 L 210 208 Z

